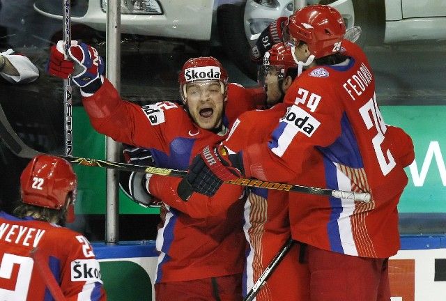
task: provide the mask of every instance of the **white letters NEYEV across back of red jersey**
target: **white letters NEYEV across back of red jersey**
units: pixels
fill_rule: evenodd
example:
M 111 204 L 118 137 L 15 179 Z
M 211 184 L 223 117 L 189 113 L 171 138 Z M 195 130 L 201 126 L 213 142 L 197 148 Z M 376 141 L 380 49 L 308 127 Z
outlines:
M 0 240 L 15 243 L 17 245 L 24 245 L 29 247 L 37 247 L 40 240 L 43 238 L 45 230 L 36 229 L 26 226 L 19 226 L 16 224 L 10 225 L 3 223 L 0 225 Z

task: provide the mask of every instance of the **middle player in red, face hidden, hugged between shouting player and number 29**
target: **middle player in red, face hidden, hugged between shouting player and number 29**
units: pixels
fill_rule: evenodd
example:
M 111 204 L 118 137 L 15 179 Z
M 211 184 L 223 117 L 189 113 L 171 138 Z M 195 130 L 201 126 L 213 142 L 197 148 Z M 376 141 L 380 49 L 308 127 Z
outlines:
M 291 86 L 298 73 L 297 67 L 293 61 L 291 49 L 284 47 L 282 43 L 275 45 L 268 52 L 259 79 L 265 85 L 268 95 L 267 105 L 271 108 L 265 111 L 247 111 L 240 115 L 231 129 L 230 136 L 224 141 L 225 146 L 238 151 L 244 146 L 268 139 L 270 132 L 275 128 L 276 121 L 286 111 L 282 103 L 277 103 L 282 102 L 284 93 Z M 258 121 L 262 121 L 262 127 L 258 126 Z M 135 150 L 135 152 L 141 152 L 141 150 Z M 150 192 L 151 197 L 160 198 L 169 206 L 192 217 L 215 215 L 235 201 L 235 199 L 227 198 L 225 199 L 227 202 L 222 201 L 222 196 L 219 194 L 227 193 L 227 191 L 221 189 L 213 197 L 192 194 L 185 202 L 177 193 L 179 178 L 158 175 L 149 175 L 148 178 L 145 188 Z M 136 180 L 135 183 L 141 186 L 141 180 Z M 134 187 L 134 190 L 138 190 L 138 187 Z M 279 252 L 279 248 L 291 236 L 286 192 L 252 188 L 247 190 L 247 195 L 244 231 L 249 245 L 245 253 L 244 295 L 259 279 L 268 263 Z M 299 262 L 299 256 L 300 245 L 295 245 L 266 284 L 262 286 L 261 291 L 256 295 L 257 301 L 307 301 L 309 299 L 308 268 L 305 263 Z

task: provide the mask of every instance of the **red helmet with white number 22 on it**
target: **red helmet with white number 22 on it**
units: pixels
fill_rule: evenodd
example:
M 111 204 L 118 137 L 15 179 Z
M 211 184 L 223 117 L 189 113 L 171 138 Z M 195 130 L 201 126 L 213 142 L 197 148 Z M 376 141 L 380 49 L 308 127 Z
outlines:
M 37 155 L 20 176 L 22 202 L 34 206 L 61 209 L 66 196 L 76 197 L 77 177 L 71 164 L 60 157 Z

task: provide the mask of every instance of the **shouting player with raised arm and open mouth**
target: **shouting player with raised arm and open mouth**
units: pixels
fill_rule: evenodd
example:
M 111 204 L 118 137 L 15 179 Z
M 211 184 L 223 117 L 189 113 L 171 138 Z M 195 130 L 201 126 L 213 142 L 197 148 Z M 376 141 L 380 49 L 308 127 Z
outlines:
M 65 76 L 73 66 L 61 49 L 59 43 L 52 48 L 49 72 L 58 76 L 65 72 Z M 76 69 L 82 65 L 73 81 L 81 87 L 93 128 L 116 141 L 148 148 L 157 167 L 187 169 L 204 146 L 226 137 L 229 123 L 240 112 L 255 107 L 255 97 L 246 95 L 252 91 L 228 84 L 226 70 L 213 57 L 190 59 L 183 65 L 178 80 L 184 107 L 174 102 L 144 107 L 126 102 L 102 77 L 102 60 L 93 47 L 75 44 L 70 57 Z M 240 187 L 228 185 L 216 197 L 222 203 L 229 199 L 233 206 L 206 218 L 163 206 L 156 242 L 160 252 L 156 300 L 241 299 L 243 200 L 233 201 L 241 192 Z

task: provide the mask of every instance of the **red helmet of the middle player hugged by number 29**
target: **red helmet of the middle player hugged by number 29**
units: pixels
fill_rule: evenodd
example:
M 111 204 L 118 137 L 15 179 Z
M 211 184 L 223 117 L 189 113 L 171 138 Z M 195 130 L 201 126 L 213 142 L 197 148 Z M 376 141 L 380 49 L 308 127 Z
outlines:
M 263 65 L 257 78 L 258 82 L 263 86 L 266 75 L 272 71 L 277 74 L 278 79 L 284 79 L 288 74 L 289 68 L 298 68 L 298 64 L 293 59 L 291 47 L 284 45 L 284 43 L 277 43 L 263 56 Z

